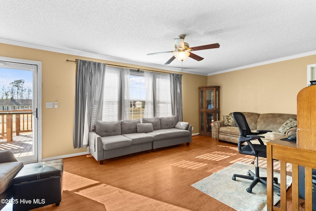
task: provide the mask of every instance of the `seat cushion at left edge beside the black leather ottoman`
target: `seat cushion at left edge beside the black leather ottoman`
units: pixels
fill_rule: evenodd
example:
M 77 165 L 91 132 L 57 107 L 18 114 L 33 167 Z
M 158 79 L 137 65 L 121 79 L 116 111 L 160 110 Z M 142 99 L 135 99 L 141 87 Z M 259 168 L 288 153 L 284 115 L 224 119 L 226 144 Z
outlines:
M 23 163 L 18 161 L 0 163 L 0 194 L 12 184 L 14 176 L 22 167 Z

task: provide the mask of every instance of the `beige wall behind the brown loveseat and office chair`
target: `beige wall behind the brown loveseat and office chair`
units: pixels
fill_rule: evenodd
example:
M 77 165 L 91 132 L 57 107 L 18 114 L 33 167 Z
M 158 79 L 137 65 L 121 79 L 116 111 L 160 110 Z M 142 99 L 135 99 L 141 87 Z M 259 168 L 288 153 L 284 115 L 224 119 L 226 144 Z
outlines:
M 222 115 L 234 111 L 296 114 L 296 97 L 307 86 L 307 65 L 316 55 L 208 76 L 221 86 Z

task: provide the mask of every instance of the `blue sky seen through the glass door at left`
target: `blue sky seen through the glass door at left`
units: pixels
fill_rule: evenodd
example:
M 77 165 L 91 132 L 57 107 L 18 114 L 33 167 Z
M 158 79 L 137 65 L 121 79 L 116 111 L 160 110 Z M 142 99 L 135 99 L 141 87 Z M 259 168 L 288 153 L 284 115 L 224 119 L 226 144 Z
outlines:
M 14 82 L 15 80 L 24 80 L 25 81 L 23 84 L 24 88 L 32 89 L 33 71 L 0 68 L 0 93 L 2 93 L 3 86 L 5 89 L 7 89 L 7 87 L 10 86 L 10 83 Z

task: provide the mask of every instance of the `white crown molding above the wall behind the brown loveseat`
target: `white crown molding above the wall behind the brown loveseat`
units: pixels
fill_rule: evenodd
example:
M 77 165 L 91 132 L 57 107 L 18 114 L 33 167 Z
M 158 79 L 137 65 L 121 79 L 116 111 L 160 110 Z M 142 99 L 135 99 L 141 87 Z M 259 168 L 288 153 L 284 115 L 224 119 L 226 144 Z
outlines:
M 261 66 L 261 65 L 272 64 L 272 63 L 282 62 L 282 61 L 291 60 L 291 59 L 297 59 L 297 58 L 311 56 L 311 55 L 315 55 L 315 54 L 316 54 L 316 50 L 306 52 L 306 53 L 300 53 L 300 54 L 296 54 L 296 55 L 292 55 L 292 56 L 286 56 L 286 57 L 282 57 L 282 58 L 278 58 L 278 59 L 272 59 L 272 60 L 268 60 L 268 61 L 264 61 L 264 62 L 255 63 L 255 64 L 245 65 L 245 66 L 241 66 L 241 67 L 236 67 L 236 68 L 232 68 L 232 69 L 228 69 L 228 70 L 222 70 L 222 71 L 218 71 L 218 72 L 214 72 L 214 73 L 209 73 L 209 74 L 207 74 L 207 76 L 228 73 L 228 72 L 232 72 L 232 71 L 236 71 L 236 70 L 242 70 L 242 69 L 246 69 L 246 68 L 257 67 L 257 66 Z

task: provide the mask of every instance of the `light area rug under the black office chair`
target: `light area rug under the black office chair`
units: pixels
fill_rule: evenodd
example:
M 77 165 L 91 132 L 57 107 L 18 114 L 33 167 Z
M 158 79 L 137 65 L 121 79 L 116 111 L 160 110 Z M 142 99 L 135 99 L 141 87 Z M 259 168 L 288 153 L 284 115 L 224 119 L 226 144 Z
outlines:
M 235 163 L 212 175 L 205 177 L 192 186 L 199 191 L 215 198 L 216 200 L 234 208 L 237 211 L 266 211 L 267 210 L 267 187 L 258 183 L 252 193 L 248 193 L 246 188 L 252 180 L 237 178 L 232 180 L 234 173 L 246 174 L 248 170 L 255 172 L 255 167 L 243 163 Z M 260 168 L 260 176 L 266 176 L 266 169 Z M 280 181 L 280 174 L 274 172 L 274 176 Z M 292 177 L 286 176 L 286 187 L 292 183 Z M 280 200 L 274 191 L 274 203 Z

